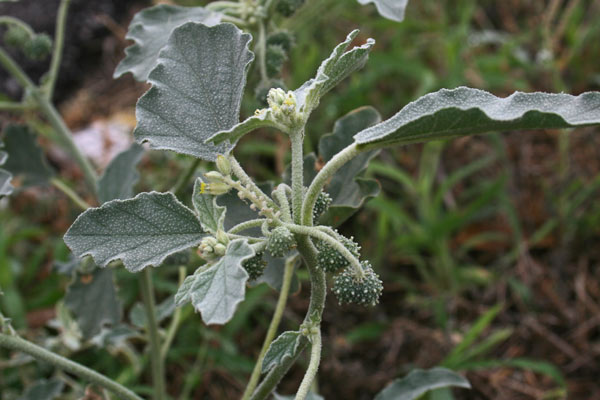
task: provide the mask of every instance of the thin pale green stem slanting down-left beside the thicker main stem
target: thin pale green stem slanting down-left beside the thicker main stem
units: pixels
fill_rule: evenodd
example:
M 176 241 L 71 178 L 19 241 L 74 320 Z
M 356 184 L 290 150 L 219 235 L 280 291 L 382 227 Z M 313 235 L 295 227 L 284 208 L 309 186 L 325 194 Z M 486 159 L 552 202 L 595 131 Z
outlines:
M 250 381 L 246 386 L 246 390 L 244 390 L 242 400 L 250 399 L 250 396 L 252 395 L 252 392 L 254 392 L 254 389 L 256 389 L 256 385 L 258 384 L 258 380 L 260 379 L 260 373 L 262 371 L 262 363 L 265 358 L 265 354 L 267 354 L 267 350 L 269 349 L 269 346 L 271 346 L 271 342 L 273 342 L 273 339 L 275 338 L 277 328 L 279 327 L 279 322 L 281 321 L 281 317 L 283 316 L 283 310 L 285 310 L 285 304 L 287 302 L 288 294 L 290 291 L 292 277 L 294 276 L 293 272 L 295 264 L 296 257 L 288 259 L 285 263 L 285 269 L 283 272 L 283 284 L 281 285 L 281 291 L 279 292 L 279 298 L 277 299 L 277 306 L 275 307 L 273 318 L 271 319 L 271 323 L 269 324 L 269 329 L 267 330 L 267 335 L 265 336 L 262 349 L 260 350 L 260 354 L 258 355 L 256 364 L 254 365 L 254 370 L 252 371 L 252 375 L 250 376 Z

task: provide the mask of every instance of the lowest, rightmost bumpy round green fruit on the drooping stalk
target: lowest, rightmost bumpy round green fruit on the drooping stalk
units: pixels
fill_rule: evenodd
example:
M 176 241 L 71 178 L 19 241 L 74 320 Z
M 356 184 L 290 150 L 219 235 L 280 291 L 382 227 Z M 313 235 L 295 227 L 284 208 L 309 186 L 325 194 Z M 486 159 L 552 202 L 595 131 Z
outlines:
M 347 268 L 333 280 L 333 293 L 341 304 L 354 303 L 374 306 L 379 303 L 383 283 L 368 261 L 361 263 L 365 276 L 358 280 L 352 268 Z

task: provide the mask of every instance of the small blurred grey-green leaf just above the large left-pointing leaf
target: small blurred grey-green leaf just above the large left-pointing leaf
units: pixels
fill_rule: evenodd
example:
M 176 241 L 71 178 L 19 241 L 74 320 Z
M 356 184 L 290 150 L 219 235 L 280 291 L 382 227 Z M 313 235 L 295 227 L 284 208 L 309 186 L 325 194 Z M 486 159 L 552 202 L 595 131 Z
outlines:
M 98 200 L 106 203 L 111 200 L 123 200 L 133 197 L 133 185 L 140 174 L 136 170 L 142 159 L 144 148 L 137 143 L 119 154 L 108 164 L 106 171 L 98 180 Z

